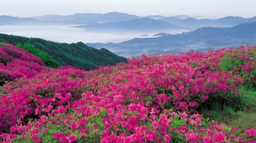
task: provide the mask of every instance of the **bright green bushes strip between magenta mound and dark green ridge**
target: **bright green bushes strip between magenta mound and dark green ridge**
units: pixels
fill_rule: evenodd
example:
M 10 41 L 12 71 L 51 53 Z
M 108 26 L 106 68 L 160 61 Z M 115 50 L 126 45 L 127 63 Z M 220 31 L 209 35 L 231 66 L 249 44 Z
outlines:
M 22 49 L 25 49 L 25 51 L 28 51 L 30 53 L 32 53 L 33 55 L 36 55 L 38 57 L 41 58 L 42 61 L 44 61 L 45 65 L 47 67 L 51 67 L 51 68 L 57 68 L 60 67 L 60 64 L 52 57 L 50 56 L 48 53 L 41 51 L 40 49 L 35 48 L 33 45 L 31 44 L 21 44 L 18 43 L 16 44 L 17 47 L 20 47 Z

